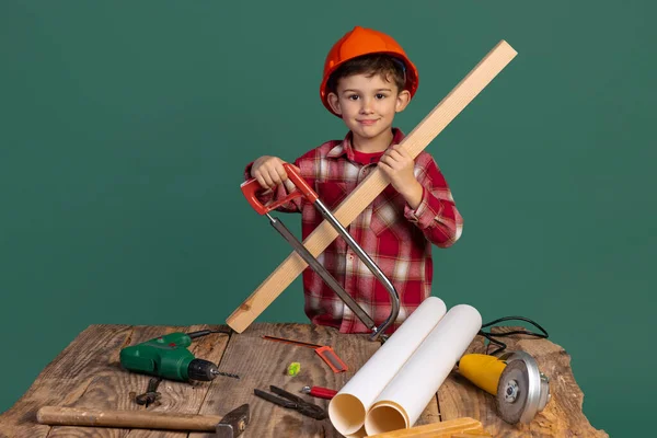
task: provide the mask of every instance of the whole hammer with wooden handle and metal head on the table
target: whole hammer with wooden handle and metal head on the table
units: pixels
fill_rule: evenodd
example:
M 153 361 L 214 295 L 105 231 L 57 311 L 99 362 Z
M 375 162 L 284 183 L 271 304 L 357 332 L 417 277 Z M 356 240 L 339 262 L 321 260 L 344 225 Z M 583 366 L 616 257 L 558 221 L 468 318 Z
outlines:
M 219 438 L 235 438 L 249 424 L 249 404 L 229 412 L 223 418 L 214 415 L 171 414 L 147 411 L 104 411 L 81 407 L 44 406 L 36 420 L 51 426 L 103 426 L 140 429 L 215 431 Z

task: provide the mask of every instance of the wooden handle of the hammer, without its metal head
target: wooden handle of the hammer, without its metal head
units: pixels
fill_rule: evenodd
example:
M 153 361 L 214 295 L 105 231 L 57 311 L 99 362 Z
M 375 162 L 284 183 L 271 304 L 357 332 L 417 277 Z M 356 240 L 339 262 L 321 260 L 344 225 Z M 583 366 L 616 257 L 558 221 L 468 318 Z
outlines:
M 58 426 L 105 426 L 141 429 L 215 431 L 221 417 L 147 411 L 104 411 L 44 406 L 36 413 L 41 424 Z

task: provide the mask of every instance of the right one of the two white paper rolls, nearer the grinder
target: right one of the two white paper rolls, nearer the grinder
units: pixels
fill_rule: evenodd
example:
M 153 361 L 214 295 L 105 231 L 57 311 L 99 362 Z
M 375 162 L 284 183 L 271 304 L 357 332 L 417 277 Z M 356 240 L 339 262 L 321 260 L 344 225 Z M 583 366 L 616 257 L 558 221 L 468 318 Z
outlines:
M 367 434 L 413 426 L 481 327 L 476 309 L 451 308 L 379 394 L 366 415 Z

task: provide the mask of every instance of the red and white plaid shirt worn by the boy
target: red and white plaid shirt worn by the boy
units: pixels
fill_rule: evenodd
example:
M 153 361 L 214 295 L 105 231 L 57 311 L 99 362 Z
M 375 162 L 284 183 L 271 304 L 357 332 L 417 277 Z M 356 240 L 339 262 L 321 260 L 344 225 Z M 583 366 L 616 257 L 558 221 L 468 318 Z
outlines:
M 404 135 L 393 129 L 391 145 Z M 351 135 L 332 140 L 295 161 L 301 176 L 334 211 L 362 180 L 376 169 L 380 154 L 364 154 L 351 147 Z M 370 162 L 371 161 L 371 162 Z M 369 205 L 346 229 L 362 250 L 392 281 L 400 295 L 400 313 L 388 334 L 403 323 L 431 293 L 434 266 L 431 243 L 452 245 L 461 235 L 463 220 L 454 206 L 449 186 L 433 157 L 420 152 L 415 159 L 415 177 L 423 185 L 422 203 L 413 210 L 392 185 Z M 251 178 L 251 164 L 245 178 Z M 275 197 L 287 194 L 284 185 Z M 272 199 L 272 193 L 262 201 Z M 320 211 L 304 198 L 297 198 L 278 210 L 301 212 L 304 240 L 323 220 Z M 319 262 L 374 320 L 379 326 L 390 314 L 390 296 L 385 287 L 339 235 L 319 255 Z M 306 314 L 314 324 L 339 328 L 342 333 L 370 332 L 312 268 L 303 270 Z

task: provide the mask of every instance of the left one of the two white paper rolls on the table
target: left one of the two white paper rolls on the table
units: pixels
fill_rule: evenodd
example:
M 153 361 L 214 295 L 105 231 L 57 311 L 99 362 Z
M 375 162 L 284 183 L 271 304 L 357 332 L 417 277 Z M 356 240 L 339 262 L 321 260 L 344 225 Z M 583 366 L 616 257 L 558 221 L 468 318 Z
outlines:
M 429 297 L 351 377 L 328 404 L 328 417 L 342 435 L 361 429 L 377 396 L 445 315 L 445 302 Z M 481 325 L 481 323 L 480 323 Z

